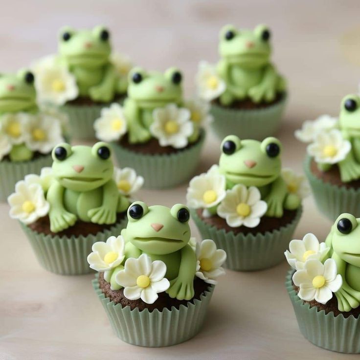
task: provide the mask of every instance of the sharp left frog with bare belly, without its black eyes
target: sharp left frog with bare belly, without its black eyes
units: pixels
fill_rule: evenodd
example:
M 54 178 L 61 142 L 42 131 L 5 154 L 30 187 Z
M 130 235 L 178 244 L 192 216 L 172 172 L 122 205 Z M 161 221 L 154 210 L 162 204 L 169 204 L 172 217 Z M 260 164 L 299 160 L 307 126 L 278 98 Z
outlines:
M 56 149 L 63 147 L 66 158 L 59 160 Z M 114 224 L 116 213 L 127 209 L 128 200 L 119 194 L 112 179 L 111 157 L 100 158 L 98 150 L 110 147 L 104 142 L 90 146 L 59 144 L 52 152 L 54 180 L 47 192 L 50 228 L 62 231 L 77 219 L 96 224 Z

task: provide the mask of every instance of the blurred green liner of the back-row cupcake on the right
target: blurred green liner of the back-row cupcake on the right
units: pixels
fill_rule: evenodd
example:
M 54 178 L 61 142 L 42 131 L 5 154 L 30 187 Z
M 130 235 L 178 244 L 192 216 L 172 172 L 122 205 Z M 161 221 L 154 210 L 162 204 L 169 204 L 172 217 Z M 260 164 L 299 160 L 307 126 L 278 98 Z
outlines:
M 214 133 L 223 139 L 227 135 L 238 135 L 241 139 L 263 140 L 275 135 L 280 127 L 287 96 L 262 109 L 231 109 L 211 103 Z

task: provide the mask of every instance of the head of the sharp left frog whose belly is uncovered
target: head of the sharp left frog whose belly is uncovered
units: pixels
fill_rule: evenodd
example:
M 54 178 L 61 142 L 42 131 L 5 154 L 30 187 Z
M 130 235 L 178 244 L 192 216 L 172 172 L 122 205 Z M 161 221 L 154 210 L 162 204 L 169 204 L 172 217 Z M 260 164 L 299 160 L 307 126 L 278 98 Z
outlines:
M 69 190 L 90 191 L 112 179 L 111 150 L 105 142 L 92 147 L 61 143 L 53 149 L 52 159 L 54 178 Z

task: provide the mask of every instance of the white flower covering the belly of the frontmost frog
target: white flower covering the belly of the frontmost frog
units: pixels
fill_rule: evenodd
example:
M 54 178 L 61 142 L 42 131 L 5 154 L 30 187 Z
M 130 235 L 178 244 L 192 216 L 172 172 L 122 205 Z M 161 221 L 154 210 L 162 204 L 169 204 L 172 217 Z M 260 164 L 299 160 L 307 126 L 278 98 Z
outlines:
M 115 275 L 115 281 L 124 287 L 124 296 L 127 299 L 141 298 L 147 304 L 153 304 L 158 293 L 170 287 L 169 280 L 164 278 L 165 273 L 165 263 L 160 260 L 152 262 L 150 256 L 142 254 L 137 259 L 127 259 L 124 270 Z

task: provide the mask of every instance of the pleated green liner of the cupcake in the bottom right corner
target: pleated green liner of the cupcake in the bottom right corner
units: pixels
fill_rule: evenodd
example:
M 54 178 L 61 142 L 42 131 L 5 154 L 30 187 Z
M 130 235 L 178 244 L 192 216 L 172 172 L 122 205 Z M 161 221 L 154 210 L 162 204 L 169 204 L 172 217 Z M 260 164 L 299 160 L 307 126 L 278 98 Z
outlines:
M 325 314 L 301 300 L 292 284 L 293 270 L 286 276 L 286 289 L 302 335 L 314 345 L 339 353 L 360 353 L 360 318 Z

